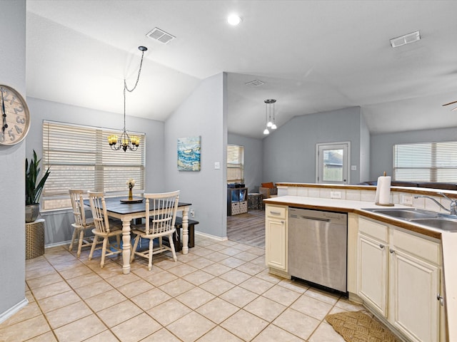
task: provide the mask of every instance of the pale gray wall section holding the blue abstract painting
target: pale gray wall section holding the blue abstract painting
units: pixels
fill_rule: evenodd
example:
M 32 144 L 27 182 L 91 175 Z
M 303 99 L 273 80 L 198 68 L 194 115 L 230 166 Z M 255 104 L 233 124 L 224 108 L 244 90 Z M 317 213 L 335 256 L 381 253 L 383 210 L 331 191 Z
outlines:
M 199 232 L 226 237 L 226 74 L 201 81 L 165 123 L 166 190 L 191 202 Z M 201 136 L 201 170 L 177 170 L 178 138 Z M 221 168 L 214 169 L 214 162 Z

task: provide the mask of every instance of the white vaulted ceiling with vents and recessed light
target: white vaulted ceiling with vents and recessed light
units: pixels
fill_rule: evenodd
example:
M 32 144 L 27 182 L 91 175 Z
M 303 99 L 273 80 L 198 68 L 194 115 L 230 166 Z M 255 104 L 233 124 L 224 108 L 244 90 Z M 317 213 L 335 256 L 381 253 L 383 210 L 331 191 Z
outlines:
M 457 1 L 27 0 L 27 95 L 164 121 L 228 73 L 229 133 L 360 106 L 371 133 L 457 127 Z M 238 26 L 226 18 L 237 13 Z M 176 38 L 146 36 L 154 27 Z M 391 38 L 421 40 L 392 48 Z M 261 86 L 246 86 L 251 81 Z M 457 104 L 456 104 L 457 106 Z M 117 120 L 117 117 L 116 117 Z M 113 128 L 121 122 L 112 123 Z M 128 123 L 127 123 L 128 127 Z

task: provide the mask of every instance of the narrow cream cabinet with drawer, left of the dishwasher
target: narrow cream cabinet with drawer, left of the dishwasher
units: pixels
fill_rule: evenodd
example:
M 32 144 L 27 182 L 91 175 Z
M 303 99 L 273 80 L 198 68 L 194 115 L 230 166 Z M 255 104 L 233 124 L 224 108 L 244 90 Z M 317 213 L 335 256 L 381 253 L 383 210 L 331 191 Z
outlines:
M 266 204 L 265 257 L 271 273 L 287 273 L 287 207 Z

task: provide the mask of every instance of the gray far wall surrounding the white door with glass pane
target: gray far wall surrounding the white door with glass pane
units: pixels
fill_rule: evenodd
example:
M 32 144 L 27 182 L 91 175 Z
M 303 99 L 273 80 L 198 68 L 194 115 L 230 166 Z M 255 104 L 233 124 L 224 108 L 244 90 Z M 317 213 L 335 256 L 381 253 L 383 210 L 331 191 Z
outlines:
M 316 182 L 316 144 L 350 141 L 351 165 L 357 165 L 350 182 L 358 183 L 369 168 L 361 157 L 368 141 L 362 125 L 359 107 L 296 116 L 263 139 L 263 182 Z

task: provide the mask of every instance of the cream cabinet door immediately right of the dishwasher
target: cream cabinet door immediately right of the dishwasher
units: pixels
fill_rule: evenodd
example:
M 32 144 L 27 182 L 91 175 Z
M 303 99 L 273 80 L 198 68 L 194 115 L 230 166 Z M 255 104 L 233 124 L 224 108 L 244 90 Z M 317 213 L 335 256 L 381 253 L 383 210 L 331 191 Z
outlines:
M 387 317 L 388 246 L 358 234 L 357 293 L 372 309 Z

